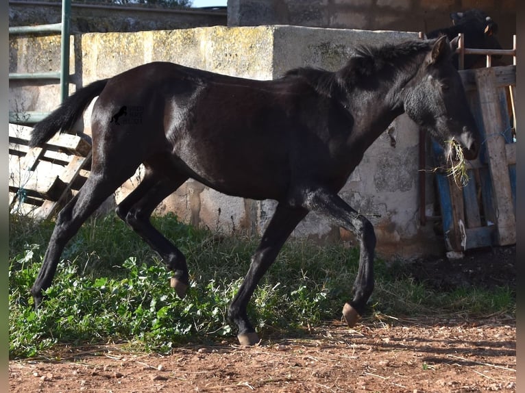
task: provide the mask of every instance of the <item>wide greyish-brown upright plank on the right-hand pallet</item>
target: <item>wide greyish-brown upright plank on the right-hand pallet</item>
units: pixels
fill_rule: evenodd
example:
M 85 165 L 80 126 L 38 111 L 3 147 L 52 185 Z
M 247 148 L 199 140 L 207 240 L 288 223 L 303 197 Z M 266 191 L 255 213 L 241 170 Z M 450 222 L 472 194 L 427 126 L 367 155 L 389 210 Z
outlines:
M 496 77 L 492 68 L 476 70 L 476 84 L 485 125 L 485 145 L 493 184 L 493 203 L 496 211 L 498 244 L 516 242 L 516 223 L 513 213 L 511 183 L 506 160 L 505 140 L 502 136 L 502 118 L 496 91 Z

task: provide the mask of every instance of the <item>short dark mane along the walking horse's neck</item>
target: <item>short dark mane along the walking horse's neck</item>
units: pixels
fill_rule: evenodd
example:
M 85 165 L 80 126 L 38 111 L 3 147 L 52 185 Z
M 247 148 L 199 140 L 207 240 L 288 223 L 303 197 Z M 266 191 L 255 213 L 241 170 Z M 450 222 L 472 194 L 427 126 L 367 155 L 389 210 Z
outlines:
M 432 44 L 433 42 L 434 40 L 431 41 Z M 300 67 L 288 71 L 284 78 L 303 78 L 319 94 L 334 97 L 347 89 L 366 83 L 371 75 L 378 79 L 391 77 L 396 71 L 405 71 L 406 68 L 415 64 L 418 53 L 426 53 L 431 48 L 430 42 L 424 40 L 412 40 L 380 47 L 361 46 L 355 50 L 347 64 L 337 72 L 321 68 Z

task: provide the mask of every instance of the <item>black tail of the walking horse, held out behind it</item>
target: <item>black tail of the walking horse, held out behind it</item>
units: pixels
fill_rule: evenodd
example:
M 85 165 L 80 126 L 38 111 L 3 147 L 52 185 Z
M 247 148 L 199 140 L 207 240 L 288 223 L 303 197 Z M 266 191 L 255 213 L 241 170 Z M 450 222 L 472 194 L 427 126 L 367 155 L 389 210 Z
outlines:
M 64 132 L 71 129 L 89 103 L 106 87 L 108 80 L 101 79 L 77 90 L 58 109 L 37 123 L 31 133 L 29 147 L 41 147 L 58 131 Z

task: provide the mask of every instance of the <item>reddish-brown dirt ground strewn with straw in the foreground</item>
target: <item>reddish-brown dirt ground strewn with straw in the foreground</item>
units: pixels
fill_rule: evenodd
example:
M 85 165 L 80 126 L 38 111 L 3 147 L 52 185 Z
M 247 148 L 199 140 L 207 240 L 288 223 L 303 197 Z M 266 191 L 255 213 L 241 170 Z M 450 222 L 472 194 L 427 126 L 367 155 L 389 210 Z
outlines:
M 463 259 L 413 262 L 415 279 L 438 288 L 462 283 L 515 285 L 515 248 Z M 171 355 L 123 346 L 60 348 L 52 359 L 9 363 L 11 392 L 516 392 L 512 316 L 467 320 L 341 321 L 300 339 L 266 338 L 187 345 Z

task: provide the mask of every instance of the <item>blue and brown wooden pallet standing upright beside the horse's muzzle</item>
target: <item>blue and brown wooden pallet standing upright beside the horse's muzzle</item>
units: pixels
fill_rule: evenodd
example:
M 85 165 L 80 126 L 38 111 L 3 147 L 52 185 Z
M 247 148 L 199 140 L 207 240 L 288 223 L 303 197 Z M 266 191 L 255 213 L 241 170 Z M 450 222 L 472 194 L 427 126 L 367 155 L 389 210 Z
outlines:
M 515 66 L 461 71 L 469 106 L 483 135 L 463 188 L 436 176 L 447 251 L 516 242 Z M 509 113 L 509 108 L 511 111 Z M 435 157 L 442 153 L 433 142 Z

